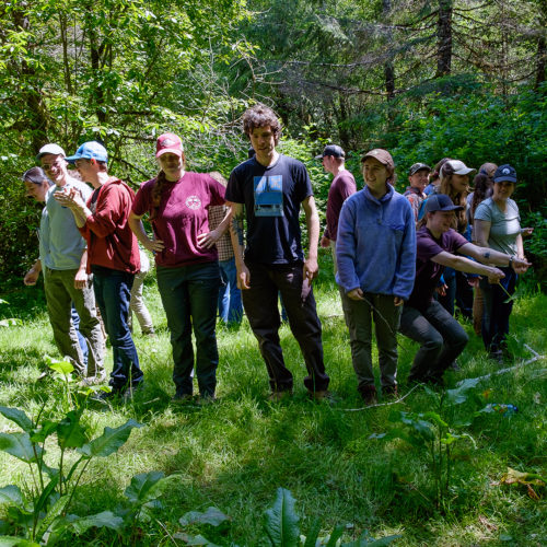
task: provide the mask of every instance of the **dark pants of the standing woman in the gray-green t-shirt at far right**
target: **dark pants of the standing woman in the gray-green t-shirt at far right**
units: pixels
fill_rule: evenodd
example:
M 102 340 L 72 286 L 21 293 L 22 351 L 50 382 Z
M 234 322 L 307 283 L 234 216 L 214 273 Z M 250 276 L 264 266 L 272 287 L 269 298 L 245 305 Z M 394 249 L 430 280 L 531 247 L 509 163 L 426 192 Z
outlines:
M 500 281 L 509 294 L 513 294 L 517 276 L 513 268 L 500 268 L 505 277 Z M 482 341 L 490 352 L 504 349 L 509 334 L 509 316 L 513 310 L 513 302 L 505 302 L 509 296 L 498 284 L 490 284 L 488 279 L 480 280 L 480 289 L 485 299 L 482 312 Z

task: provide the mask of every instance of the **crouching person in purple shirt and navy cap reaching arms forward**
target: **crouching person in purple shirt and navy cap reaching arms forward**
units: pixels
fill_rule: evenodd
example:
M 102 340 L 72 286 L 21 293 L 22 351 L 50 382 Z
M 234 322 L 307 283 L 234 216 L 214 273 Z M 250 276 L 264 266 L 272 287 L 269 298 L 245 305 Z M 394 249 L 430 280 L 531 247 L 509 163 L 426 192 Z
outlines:
M 451 228 L 455 211 L 463 208 L 444 194 L 430 196 L 424 206 L 426 225 L 416 234 L 416 280 L 403 309 L 399 330 L 421 345 L 414 359 L 409 382 L 443 385 L 443 373 L 464 350 L 468 337 L 457 321 L 437 301 L 433 293 L 445 266 L 478 274 L 498 283 L 503 271 L 487 264 L 509 266 L 515 272 L 528 267 L 526 260 L 469 243 Z M 467 255 L 480 263 L 466 258 Z

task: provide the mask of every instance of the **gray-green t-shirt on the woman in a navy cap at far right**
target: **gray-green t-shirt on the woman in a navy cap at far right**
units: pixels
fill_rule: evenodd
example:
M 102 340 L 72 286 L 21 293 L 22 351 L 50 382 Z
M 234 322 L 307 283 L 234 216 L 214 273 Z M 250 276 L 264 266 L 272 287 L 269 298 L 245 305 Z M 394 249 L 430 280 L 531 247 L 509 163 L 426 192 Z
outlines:
M 488 246 L 500 253 L 515 256 L 516 236 L 521 233 L 521 217 L 519 207 L 512 199 L 508 199 L 505 212 L 502 212 L 492 198 L 479 203 L 475 211 L 475 220 L 490 222 Z

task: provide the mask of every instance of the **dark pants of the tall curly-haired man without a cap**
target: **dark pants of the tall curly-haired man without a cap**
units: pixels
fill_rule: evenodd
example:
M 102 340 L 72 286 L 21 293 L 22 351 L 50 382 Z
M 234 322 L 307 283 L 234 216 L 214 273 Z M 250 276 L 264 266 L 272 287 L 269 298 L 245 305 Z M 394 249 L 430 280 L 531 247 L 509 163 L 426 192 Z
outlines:
M 260 353 L 266 361 L 274 392 L 292 389 L 292 374 L 284 365 L 279 344 L 278 292 L 287 310 L 291 331 L 300 345 L 309 375 L 304 385 L 311 392 L 328 387 L 323 362 L 321 322 L 315 310 L 312 287 L 304 280 L 303 264 L 261 265 L 246 263 L 251 289 L 242 291 L 243 305 Z

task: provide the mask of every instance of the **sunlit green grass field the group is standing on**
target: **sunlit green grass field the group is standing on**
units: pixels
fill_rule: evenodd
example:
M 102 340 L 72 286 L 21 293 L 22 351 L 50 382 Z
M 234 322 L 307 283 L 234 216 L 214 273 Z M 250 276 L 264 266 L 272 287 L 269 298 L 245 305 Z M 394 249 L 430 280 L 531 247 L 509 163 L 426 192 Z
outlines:
M 85 514 L 115 508 L 139 473 L 162 470 L 177 478 L 165 491 L 155 520 L 131 535 L 92 528 L 81 537 L 67 538 L 65 545 L 185 545 L 175 536 L 182 532 L 199 533 L 217 545 L 268 545 L 261 515 L 278 487 L 289 489 L 296 500 L 304 535 L 318 519 L 323 535 L 337 524 L 345 525 L 345 542 L 366 529 L 376 538 L 398 534 L 394 545 L 400 546 L 547 545 L 545 486 L 502 484 L 508 467 L 547 476 L 546 360 L 524 364 L 534 357 L 527 347 L 547 353 L 547 298 L 529 293 L 515 302 L 510 340 L 515 358 L 509 366 L 520 366 L 480 382 L 465 403 L 439 411 L 453 424 L 489 403 L 519 407 L 514 415 L 481 414 L 457 429 L 469 437 L 451 447 L 450 485 L 439 505 L 434 470 L 424 450 L 401 440 L 369 437 L 394 427 L 393 411 L 439 410 L 440 394 L 420 387 L 395 405 L 362 408 L 331 264 L 328 256 L 322 260 L 315 291 L 333 403 L 307 399 L 303 359 L 288 326 L 281 328 L 281 342 L 295 376 L 294 396 L 269 403 L 266 368 L 246 321 L 238 329 L 218 330 L 219 400 L 203 407 L 172 403 L 168 333 L 155 282 L 148 280 L 144 294 L 159 336 L 142 338 L 136 327 L 146 386 L 125 406 L 90 403 L 84 412 L 84 422 L 95 435 L 105 426 L 114 428 L 129 418 L 143 427 L 131 432 L 117 454 L 92 461 L 73 509 Z M 19 317 L 23 325 L 0 329 L 0 405 L 36 416 L 45 404 L 45 415 L 59 417 L 60 383 L 36 382 L 46 368 L 44 356 L 60 358 L 43 291 L 22 287 L 2 298 L 9 302 L 1 309 L 3 316 Z M 500 368 L 486 359 L 470 325 L 466 329 L 472 340 L 459 359 L 463 371 L 447 374 L 450 387 Z M 400 337 L 400 396 L 409 391 L 406 377 L 416 348 Z M 107 366 L 112 366 L 109 350 Z M 15 430 L 0 417 L 1 432 Z M 56 454 L 55 441 L 50 440 L 48 450 Z M 4 452 L 0 452 L 0 487 L 30 482 L 27 467 Z M 184 513 L 211 505 L 228 514 L 230 523 L 219 528 L 178 523 Z M 7 516 L 5 508 L 0 507 L 1 515 Z

